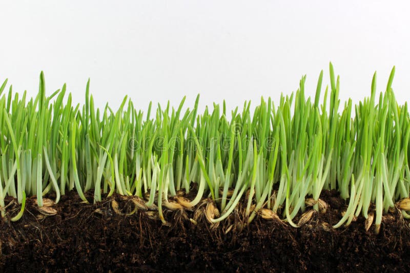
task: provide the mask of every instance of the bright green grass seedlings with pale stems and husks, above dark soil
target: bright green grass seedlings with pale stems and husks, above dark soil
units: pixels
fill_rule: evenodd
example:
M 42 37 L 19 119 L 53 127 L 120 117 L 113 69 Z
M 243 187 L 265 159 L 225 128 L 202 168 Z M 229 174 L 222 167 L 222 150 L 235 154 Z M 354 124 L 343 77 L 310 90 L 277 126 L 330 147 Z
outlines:
M 114 193 L 132 201 L 116 214 L 137 210 L 168 223 L 165 211 L 195 211 L 192 224 L 212 226 L 234 211 L 242 226 L 255 217 L 299 227 L 329 207 L 323 190 L 337 190 L 346 200 L 338 228 L 356 217 L 377 234 L 383 214 L 400 210 L 410 218 L 407 103 L 398 105 L 392 81 L 378 94 L 376 74 L 370 97 L 340 105 L 339 77 L 330 64 L 330 87 L 322 92 L 320 73 L 314 100 L 305 97 L 305 77 L 290 96 L 261 99 L 227 112 L 214 104 L 197 112 L 157 106 L 147 113 L 127 97 L 114 111 L 94 106 L 86 88 L 85 105 L 73 105 L 66 85 L 46 95 L 43 73 L 39 92 L 27 98 L 0 88 L 0 206 L 2 217 L 18 221 L 27 198 L 53 215 L 61 196 L 75 190 L 84 203 Z M 229 117 L 229 118 L 228 118 Z M 85 193 L 92 192 L 93 198 Z M 45 198 L 54 193 L 55 199 Z M 5 206 L 20 204 L 13 215 Z M 238 209 L 239 208 L 239 209 Z M 299 219 L 295 221 L 295 217 Z

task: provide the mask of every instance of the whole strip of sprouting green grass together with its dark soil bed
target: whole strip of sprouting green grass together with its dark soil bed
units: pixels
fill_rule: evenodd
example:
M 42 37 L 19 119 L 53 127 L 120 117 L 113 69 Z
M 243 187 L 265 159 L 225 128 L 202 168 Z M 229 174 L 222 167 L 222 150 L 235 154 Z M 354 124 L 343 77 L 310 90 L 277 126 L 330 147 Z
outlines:
M 252 112 L 202 113 L 199 95 L 114 111 L 90 82 L 75 105 L 66 85 L 46 95 L 43 73 L 35 98 L 6 80 L 0 270 L 410 269 L 410 116 L 394 73 L 357 104 L 340 105 L 330 64 L 314 99 L 304 76 Z

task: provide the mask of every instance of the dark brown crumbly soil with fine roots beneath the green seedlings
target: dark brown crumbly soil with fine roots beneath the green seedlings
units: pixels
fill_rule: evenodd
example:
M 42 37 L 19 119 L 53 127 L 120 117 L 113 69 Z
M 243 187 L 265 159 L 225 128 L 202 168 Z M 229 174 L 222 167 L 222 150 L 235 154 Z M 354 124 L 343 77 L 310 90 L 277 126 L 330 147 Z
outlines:
M 132 210 L 120 196 L 86 204 L 75 192 L 44 216 L 30 198 L 22 219 L 0 220 L 0 271 L 410 271 L 410 230 L 398 211 L 383 217 L 378 235 L 374 225 L 365 231 L 363 217 L 334 230 L 346 202 L 335 191 L 321 198 L 330 209 L 299 229 L 259 216 L 243 227 L 239 213 L 218 226 L 206 217 L 195 225 L 187 210 L 166 212 L 163 225 L 140 210 L 115 213 L 113 199 L 122 212 Z

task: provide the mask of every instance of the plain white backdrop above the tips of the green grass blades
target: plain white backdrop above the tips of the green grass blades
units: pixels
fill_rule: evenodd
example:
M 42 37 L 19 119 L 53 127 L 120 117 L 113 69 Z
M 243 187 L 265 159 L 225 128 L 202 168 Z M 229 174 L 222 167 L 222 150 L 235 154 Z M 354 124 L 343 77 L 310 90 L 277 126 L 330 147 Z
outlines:
M 332 3 L 2 1 L 0 80 L 35 96 L 43 70 L 48 94 L 66 82 L 83 103 L 90 77 L 97 106 L 114 109 L 125 95 L 144 110 L 187 95 L 192 108 L 198 93 L 201 110 L 223 99 L 241 109 L 261 96 L 277 102 L 304 74 L 313 96 L 332 61 L 342 101 L 369 96 L 376 70 L 384 90 L 393 65 L 397 100 L 408 100 L 408 4 Z

